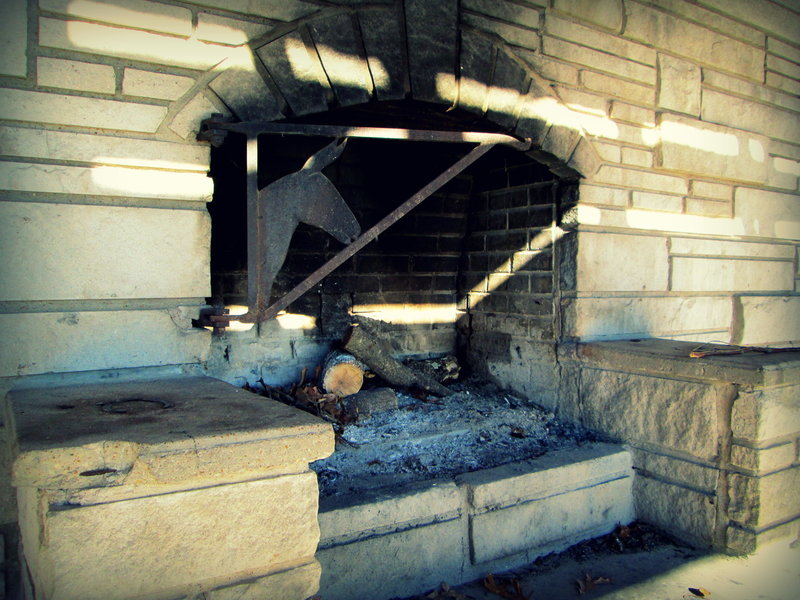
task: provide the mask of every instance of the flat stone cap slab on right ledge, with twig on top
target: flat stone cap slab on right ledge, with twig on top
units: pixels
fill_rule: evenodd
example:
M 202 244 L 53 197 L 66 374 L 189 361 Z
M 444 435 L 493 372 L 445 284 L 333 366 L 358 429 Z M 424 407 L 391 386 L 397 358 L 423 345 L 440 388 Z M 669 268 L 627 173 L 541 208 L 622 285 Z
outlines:
M 655 338 L 588 342 L 575 347 L 575 358 L 597 368 L 669 377 L 680 373 L 686 378 L 753 387 L 800 383 L 800 352 L 747 352 L 690 358 L 689 353 L 698 345 L 697 342 Z M 702 346 L 704 350 L 729 348 L 719 344 Z

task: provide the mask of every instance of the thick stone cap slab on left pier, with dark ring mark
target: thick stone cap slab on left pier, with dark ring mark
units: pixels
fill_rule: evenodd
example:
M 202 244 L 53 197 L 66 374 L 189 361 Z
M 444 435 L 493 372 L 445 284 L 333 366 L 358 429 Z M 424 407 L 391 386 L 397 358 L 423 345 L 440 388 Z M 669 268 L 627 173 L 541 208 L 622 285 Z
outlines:
M 19 389 L 8 402 L 16 487 L 241 481 L 303 471 L 334 446 L 324 421 L 209 377 Z

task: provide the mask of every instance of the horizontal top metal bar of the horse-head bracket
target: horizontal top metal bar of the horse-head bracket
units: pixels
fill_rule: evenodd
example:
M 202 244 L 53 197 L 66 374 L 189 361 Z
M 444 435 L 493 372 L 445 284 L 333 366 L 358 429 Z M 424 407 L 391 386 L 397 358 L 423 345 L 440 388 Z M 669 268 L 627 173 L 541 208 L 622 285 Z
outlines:
M 323 137 L 362 137 L 410 142 L 450 142 L 475 144 L 507 144 L 518 150 L 528 150 L 530 140 L 519 140 L 503 133 L 483 131 L 436 131 L 429 129 L 398 129 L 390 127 L 351 127 L 340 125 L 313 125 L 304 123 L 271 123 L 269 121 L 227 121 L 207 119 L 208 129 L 234 131 L 248 136 L 273 135 L 318 135 Z

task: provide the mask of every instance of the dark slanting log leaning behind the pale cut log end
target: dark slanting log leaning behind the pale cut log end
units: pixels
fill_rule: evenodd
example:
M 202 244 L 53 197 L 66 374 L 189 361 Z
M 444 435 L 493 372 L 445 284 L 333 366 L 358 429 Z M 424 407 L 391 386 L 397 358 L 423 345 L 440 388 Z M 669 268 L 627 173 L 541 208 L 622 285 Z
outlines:
M 452 393 L 433 377 L 417 372 L 392 357 L 388 342 L 371 335 L 363 326 L 352 327 L 342 347 L 391 385 L 417 388 L 437 396 Z

